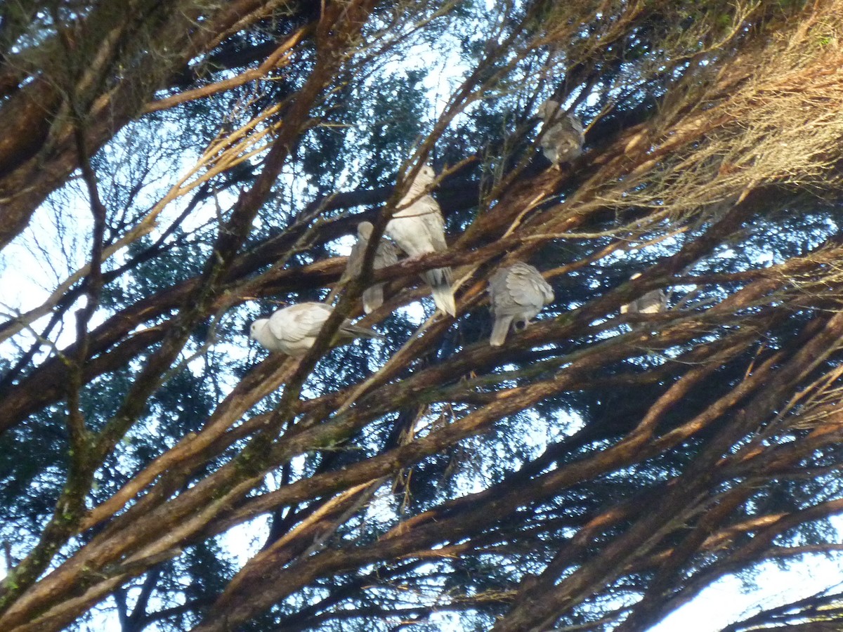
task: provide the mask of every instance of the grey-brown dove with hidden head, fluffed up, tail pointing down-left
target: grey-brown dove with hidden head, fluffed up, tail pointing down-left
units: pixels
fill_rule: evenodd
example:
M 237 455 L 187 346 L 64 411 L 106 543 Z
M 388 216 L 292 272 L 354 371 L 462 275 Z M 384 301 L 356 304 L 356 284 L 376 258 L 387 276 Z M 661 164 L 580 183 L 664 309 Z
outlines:
M 489 278 L 488 290 L 491 314 L 495 319 L 489 339 L 492 346 L 503 344 L 510 324 L 516 331 L 526 329 L 529 319 L 545 305 L 553 303 L 553 288 L 539 270 L 521 261 L 497 270 Z

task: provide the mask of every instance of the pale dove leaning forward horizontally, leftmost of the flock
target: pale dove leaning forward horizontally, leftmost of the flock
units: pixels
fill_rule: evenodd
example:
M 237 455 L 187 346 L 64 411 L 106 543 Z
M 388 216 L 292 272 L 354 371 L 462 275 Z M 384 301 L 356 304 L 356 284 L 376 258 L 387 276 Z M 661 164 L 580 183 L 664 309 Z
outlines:
M 252 323 L 249 337 L 270 351 L 282 351 L 287 356 L 303 356 L 314 345 L 319 329 L 334 308 L 325 303 L 298 303 L 279 309 L 268 319 L 257 319 Z M 383 338 L 377 331 L 358 327 L 345 320 L 336 332 L 342 344 L 355 338 Z

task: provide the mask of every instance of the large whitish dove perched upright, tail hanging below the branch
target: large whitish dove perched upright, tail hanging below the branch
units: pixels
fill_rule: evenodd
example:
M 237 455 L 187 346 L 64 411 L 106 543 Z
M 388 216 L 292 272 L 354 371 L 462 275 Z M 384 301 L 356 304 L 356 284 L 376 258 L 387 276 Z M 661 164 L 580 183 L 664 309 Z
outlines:
M 410 190 L 398 204 L 386 225 L 385 233 L 410 257 L 442 252 L 448 249 L 445 242 L 445 220 L 438 202 L 424 190 L 436 179 L 436 173 L 427 164 L 421 165 Z M 450 268 L 434 268 L 422 273 L 422 278 L 431 287 L 433 302 L 445 313 L 457 315 L 454 290 L 451 288 L 453 273 Z

